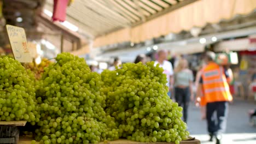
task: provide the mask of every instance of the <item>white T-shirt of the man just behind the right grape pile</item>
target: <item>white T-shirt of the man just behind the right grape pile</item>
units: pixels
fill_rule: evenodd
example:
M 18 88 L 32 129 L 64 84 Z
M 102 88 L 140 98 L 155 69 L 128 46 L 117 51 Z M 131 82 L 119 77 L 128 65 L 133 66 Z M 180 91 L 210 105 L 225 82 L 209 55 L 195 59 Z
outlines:
M 170 76 L 173 75 L 172 63 L 170 63 L 168 61 L 164 61 L 164 62 L 162 62 L 162 64 L 160 64 L 158 61 L 155 61 L 154 66 L 156 66 L 156 64 L 159 64 L 159 67 L 164 69 L 164 74 L 166 74 L 166 77 L 167 77 L 166 85 L 169 87 L 170 86 Z

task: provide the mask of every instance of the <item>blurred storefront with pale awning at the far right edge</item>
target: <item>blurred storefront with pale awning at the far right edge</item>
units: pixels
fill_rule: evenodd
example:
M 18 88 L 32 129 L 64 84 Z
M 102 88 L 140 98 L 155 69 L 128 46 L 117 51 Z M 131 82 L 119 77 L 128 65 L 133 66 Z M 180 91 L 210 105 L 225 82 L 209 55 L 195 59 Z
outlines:
M 231 65 L 235 81 L 233 83 L 236 99 L 254 101 L 252 88 L 253 75 L 256 73 L 256 46 L 255 36 L 223 41 L 214 47 L 217 52 L 234 51 L 238 53 L 239 63 Z

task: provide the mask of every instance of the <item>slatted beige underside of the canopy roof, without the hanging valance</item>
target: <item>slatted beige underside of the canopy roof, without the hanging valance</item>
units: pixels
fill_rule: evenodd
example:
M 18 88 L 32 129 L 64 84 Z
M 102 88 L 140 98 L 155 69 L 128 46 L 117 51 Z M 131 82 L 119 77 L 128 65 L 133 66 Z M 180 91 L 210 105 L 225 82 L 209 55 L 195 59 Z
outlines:
M 92 37 L 131 27 L 173 8 L 196 0 L 75 0 L 67 8 L 67 21 Z M 52 11 L 53 0 L 45 8 Z

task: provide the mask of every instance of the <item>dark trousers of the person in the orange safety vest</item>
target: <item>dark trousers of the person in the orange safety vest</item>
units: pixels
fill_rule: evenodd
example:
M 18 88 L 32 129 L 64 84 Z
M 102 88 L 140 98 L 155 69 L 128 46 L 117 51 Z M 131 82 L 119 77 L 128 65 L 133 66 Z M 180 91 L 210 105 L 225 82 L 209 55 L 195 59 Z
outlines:
M 214 115 L 216 113 L 216 115 Z M 221 135 L 226 129 L 228 102 L 218 101 L 206 105 L 207 127 L 210 135 Z

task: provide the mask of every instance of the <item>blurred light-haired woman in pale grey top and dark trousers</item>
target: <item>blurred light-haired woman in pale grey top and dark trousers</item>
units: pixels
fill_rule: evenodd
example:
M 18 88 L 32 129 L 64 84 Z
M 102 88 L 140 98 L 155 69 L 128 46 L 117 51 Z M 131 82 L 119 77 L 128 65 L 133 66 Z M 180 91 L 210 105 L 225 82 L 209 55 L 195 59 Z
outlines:
M 174 69 L 175 99 L 179 106 L 183 107 L 184 122 L 188 119 L 188 106 L 190 99 L 193 100 L 193 73 L 188 69 L 187 59 L 180 59 Z

